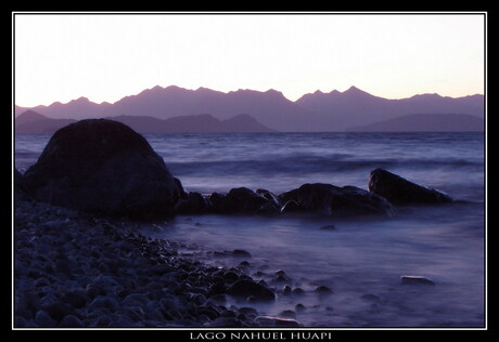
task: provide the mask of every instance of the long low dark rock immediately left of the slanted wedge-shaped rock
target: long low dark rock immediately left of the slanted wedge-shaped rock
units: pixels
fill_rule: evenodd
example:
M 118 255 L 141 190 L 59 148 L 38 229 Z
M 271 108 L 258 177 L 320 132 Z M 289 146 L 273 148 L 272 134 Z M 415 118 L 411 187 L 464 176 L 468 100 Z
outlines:
M 298 202 L 304 210 L 328 215 L 392 215 L 393 206 L 383 197 L 355 186 L 304 184 L 298 188 Z

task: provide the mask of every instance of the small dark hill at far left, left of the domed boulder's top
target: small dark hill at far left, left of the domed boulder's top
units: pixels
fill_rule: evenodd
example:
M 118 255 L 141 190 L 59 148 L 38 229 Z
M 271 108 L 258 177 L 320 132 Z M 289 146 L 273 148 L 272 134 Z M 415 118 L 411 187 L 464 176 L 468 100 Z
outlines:
M 52 134 L 60 128 L 75 122 L 72 119 L 51 119 L 34 110 L 27 110 L 14 120 L 15 133 Z

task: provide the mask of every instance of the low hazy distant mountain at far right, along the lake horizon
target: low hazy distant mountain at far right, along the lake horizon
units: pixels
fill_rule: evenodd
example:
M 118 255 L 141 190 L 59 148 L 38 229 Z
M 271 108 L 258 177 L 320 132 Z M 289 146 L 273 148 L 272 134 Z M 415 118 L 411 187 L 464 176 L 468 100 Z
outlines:
M 466 114 L 411 114 L 347 129 L 348 132 L 483 132 L 483 118 Z

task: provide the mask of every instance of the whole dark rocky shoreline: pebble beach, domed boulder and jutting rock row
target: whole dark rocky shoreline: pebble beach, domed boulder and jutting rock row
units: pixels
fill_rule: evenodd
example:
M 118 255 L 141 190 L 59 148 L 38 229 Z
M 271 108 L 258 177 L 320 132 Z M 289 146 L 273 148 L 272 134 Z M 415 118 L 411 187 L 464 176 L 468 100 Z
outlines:
M 389 216 L 395 206 L 450 201 L 381 169 L 367 190 L 314 183 L 280 195 L 187 193 L 141 135 L 82 120 L 55 132 L 24 174 L 14 171 L 14 327 L 299 327 L 290 313 L 269 317 L 252 304 L 300 288 L 257 280 L 244 261 L 227 268 L 182 255 L 179 244 L 141 234 L 137 222 L 206 213 Z

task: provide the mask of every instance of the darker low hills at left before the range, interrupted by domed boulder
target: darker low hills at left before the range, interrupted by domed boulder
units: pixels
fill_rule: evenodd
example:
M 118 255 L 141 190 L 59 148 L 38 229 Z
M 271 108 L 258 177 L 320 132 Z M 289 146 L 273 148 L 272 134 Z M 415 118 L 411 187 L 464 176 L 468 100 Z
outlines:
M 108 117 L 129 126 L 140 133 L 228 133 L 228 132 L 273 132 L 248 115 L 238 115 L 219 120 L 212 115 L 175 117 L 166 120 L 153 117 L 117 116 Z M 34 110 L 27 110 L 15 118 L 15 133 L 53 133 L 57 129 L 76 122 L 73 119 L 51 119 Z

